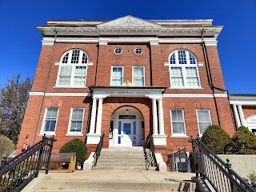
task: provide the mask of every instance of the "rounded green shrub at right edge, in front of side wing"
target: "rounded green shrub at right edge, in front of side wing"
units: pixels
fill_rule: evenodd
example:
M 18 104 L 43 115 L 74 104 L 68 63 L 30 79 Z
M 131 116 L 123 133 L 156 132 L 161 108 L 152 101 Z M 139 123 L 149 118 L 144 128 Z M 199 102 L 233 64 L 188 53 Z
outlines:
M 256 135 L 240 126 L 231 138 L 230 147 L 234 154 L 256 154 Z

